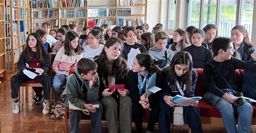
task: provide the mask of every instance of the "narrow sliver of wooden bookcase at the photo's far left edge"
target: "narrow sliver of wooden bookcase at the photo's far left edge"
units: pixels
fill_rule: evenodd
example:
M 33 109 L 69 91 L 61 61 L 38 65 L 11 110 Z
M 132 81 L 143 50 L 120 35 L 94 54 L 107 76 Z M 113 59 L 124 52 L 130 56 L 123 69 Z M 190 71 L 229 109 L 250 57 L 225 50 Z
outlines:
M 6 80 L 6 54 L 5 54 L 5 5 L 0 0 L 0 80 Z

